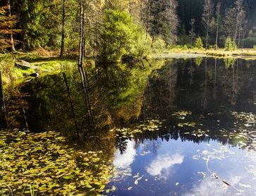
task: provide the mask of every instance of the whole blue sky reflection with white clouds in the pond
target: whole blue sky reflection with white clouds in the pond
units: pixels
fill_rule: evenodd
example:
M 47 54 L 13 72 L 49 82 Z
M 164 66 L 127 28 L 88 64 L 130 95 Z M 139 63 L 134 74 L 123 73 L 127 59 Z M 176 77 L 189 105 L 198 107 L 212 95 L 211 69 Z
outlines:
M 128 141 L 123 155 L 116 152 L 114 165 L 132 174 L 111 182 L 114 195 L 256 195 L 256 153 L 218 142 Z

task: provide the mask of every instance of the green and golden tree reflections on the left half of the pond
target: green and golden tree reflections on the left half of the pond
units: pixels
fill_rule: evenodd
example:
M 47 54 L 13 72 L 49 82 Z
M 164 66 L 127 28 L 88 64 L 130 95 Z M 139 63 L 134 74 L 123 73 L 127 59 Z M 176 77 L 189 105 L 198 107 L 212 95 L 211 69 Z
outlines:
M 161 65 L 159 63 L 159 67 Z M 157 66 L 133 66 L 112 65 L 107 70 L 98 68 L 88 74 L 89 98 L 97 130 L 125 125 L 140 116 L 147 77 Z M 67 69 L 63 73 L 41 76 L 15 89 L 28 93 L 30 97 L 20 98 L 8 90 L 10 99 L 7 104 L 17 109 L 22 108 L 20 104 L 23 102 L 27 104 L 25 111 L 30 130 L 57 130 L 65 135 L 74 135 L 78 130 L 84 136 L 94 134 L 88 128 L 90 122 L 77 71 Z M 8 118 L 14 116 L 17 115 L 10 113 Z M 20 119 L 13 120 L 13 128 L 25 126 Z

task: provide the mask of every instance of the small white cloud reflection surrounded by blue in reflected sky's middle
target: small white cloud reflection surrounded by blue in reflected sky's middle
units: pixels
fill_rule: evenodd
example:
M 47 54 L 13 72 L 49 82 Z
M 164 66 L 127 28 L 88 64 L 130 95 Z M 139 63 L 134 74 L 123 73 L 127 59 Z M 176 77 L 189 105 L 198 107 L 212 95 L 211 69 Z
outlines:
M 171 168 L 175 164 L 182 164 L 184 156 L 181 154 L 161 154 L 152 161 L 150 166 L 147 166 L 147 173 L 152 176 L 159 176 L 159 178 L 167 179 L 169 178 L 169 173 Z

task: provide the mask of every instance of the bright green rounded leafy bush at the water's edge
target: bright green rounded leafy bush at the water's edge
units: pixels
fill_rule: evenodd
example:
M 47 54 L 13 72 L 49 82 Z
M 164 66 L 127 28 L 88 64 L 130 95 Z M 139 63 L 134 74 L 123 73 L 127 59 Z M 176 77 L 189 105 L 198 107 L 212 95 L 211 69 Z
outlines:
M 99 59 L 104 63 L 121 61 L 123 56 L 138 57 L 151 42 L 145 41 L 145 32 L 126 11 L 107 9 L 103 28 Z

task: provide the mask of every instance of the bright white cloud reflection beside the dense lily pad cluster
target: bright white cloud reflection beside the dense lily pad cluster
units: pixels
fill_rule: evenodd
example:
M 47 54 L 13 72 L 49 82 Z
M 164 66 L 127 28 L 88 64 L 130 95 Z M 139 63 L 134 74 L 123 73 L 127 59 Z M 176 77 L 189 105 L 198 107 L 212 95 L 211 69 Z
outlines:
M 128 169 L 130 170 L 130 165 L 133 164 L 135 159 L 136 149 L 135 149 L 135 142 L 128 141 L 126 152 L 123 154 L 120 153 L 118 150 L 115 154 L 114 158 L 114 166 L 116 169 Z

